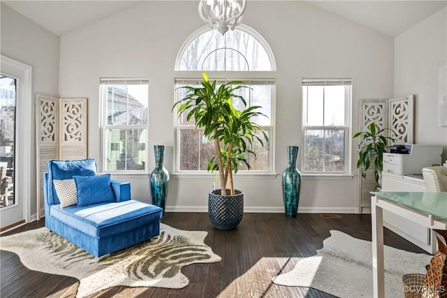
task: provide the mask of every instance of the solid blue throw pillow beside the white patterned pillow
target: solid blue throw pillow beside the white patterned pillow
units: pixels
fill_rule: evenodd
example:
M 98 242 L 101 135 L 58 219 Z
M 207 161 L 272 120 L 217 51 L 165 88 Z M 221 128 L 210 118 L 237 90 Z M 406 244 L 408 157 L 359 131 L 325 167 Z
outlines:
M 78 206 L 115 201 L 110 185 L 110 174 L 101 176 L 73 176 L 78 192 Z

